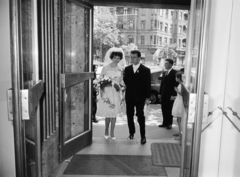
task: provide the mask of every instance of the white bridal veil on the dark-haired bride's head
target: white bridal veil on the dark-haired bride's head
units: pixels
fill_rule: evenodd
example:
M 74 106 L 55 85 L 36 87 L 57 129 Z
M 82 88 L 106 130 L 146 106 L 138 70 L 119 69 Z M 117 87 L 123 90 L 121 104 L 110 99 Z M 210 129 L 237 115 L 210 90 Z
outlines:
M 110 58 L 110 55 L 111 55 L 111 53 L 112 53 L 113 51 L 114 51 L 114 52 L 122 52 L 123 58 L 122 58 L 122 60 L 120 60 L 120 62 L 118 63 L 118 66 L 121 67 L 121 68 L 125 68 L 125 66 L 127 65 L 127 62 L 126 62 L 126 58 L 125 58 L 124 51 L 123 51 L 122 48 L 117 48 L 117 47 L 112 47 L 112 48 L 110 48 L 110 49 L 107 51 L 107 53 L 106 53 L 106 55 L 105 55 L 105 57 L 104 57 L 104 65 L 107 65 L 107 64 L 109 64 L 109 63 L 112 62 L 112 60 L 111 60 L 111 58 Z

